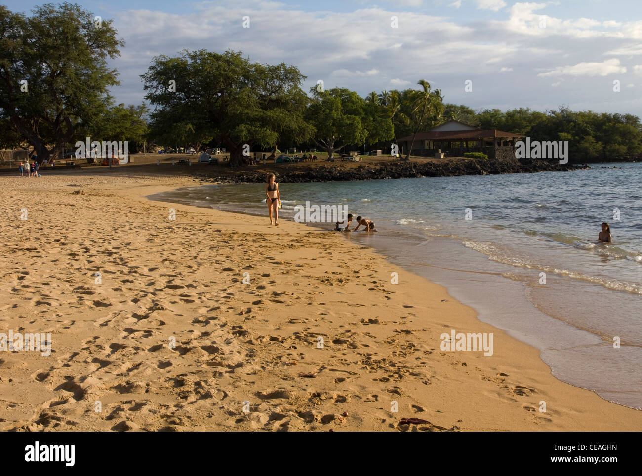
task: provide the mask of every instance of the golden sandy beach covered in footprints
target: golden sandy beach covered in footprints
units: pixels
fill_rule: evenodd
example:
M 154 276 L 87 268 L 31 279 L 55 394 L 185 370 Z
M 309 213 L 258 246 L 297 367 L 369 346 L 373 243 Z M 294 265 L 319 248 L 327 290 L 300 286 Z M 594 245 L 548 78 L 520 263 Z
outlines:
M 0 185 L 0 333 L 51 334 L 51 355 L 0 352 L 3 430 L 642 429 L 340 234 L 145 198 L 186 176 Z M 442 352 L 453 329 L 494 352 Z

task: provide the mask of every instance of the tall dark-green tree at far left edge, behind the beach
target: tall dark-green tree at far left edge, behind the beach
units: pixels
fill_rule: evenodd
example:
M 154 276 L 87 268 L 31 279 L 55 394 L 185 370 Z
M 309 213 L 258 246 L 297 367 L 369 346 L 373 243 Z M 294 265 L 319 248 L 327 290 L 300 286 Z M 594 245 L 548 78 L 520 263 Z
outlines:
M 112 21 L 77 4 L 44 4 L 30 17 L 0 5 L 0 121 L 39 162 L 58 157 L 79 124 L 110 104 L 118 81 L 107 60 L 123 45 Z

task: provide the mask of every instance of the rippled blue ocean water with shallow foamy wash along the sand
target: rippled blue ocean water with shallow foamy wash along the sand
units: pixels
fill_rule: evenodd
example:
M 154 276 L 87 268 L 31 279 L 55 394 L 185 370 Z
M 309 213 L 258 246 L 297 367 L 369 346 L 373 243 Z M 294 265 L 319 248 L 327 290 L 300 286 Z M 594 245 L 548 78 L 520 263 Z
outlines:
M 282 183 L 281 216 L 293 219 L 306 201 L 346 205 L 379 233 L 345 239 L 446 286 L 482 321 L 539 348 L 560 380 L 641 409 L 642 164 L 612 167 Z M 154 198 L 262 215 L 256 219 L 267 223 L 264 190 L 204 185 Z M 596 242 L 603 221 L 612 243 Z

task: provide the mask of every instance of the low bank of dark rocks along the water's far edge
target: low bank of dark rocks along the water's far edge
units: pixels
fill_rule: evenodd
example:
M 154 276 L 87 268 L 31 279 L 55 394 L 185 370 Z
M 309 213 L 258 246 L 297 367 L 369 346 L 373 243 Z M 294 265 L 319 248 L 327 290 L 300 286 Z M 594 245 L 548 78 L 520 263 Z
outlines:
M 528 163 L 503 160 L 451 160 L 449 162 L 391 162 L 390 164 L 363 164 L 358 167 L 344 168 L 336 165 L 315 166 L 301 170 L 288 170 L 284 164 L 277 169 L 258 167 L 241 169 L 225 174 L 213 170 L 212 173 L 198 173 L 196 178 L 205 182 L 219 183 L 263 183 L 265 175 L 271 171 L 277 175 L 278 182 L 329 182 L 333 180 L 374 180 L 382 178 L 437 177 L 455 175 L 486 175 L 503 173 L 534 173 L 543 171 L 572 171 L 586 169 L 588 166 L 571 165 L 531 160 Z

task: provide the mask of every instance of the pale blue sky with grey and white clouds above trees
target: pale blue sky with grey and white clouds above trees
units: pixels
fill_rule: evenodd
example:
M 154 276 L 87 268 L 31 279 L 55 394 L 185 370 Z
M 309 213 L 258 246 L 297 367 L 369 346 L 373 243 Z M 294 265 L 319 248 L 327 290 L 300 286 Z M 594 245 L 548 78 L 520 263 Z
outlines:
M 126 42 L 112 62 L 120 73 L 121 86 L 112 90 L 118 102 L 143 101 L 139 76 L 153 56 L 204 48 L 297 65 L 308 76 L 304 90 L 323 80 L 326 89 L 336 85 L 365 96 L 425 79 L 447 102 L 475 109 L 566 104 L 642 117 L 638 0 L 78 3 L 114 19 Z M 40 3 L 3 4 L 28 13 Z

